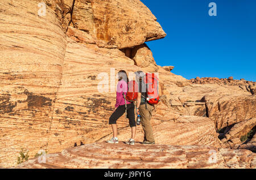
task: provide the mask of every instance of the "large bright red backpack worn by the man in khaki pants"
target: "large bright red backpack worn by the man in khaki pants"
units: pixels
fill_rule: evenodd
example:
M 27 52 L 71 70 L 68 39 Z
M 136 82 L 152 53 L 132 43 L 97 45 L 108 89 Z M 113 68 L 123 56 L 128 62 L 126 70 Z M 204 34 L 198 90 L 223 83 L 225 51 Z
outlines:
M 146 83 L 147 97 L 146 100 L 148 104 L 154 105 L 158 104 L 159 93 L 158 93 L 158 78 L 154 73 L 146 73 L 144 76 L 144 83 Z

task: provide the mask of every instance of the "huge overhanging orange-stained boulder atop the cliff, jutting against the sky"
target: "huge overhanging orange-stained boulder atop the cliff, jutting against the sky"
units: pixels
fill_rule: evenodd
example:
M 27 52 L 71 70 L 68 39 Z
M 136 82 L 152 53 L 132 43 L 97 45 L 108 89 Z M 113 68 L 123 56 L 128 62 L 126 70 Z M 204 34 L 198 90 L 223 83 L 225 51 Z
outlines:
M 76 0 L 71 25 L 118 49 L 166 36 L 155 16 L 139 0 Z

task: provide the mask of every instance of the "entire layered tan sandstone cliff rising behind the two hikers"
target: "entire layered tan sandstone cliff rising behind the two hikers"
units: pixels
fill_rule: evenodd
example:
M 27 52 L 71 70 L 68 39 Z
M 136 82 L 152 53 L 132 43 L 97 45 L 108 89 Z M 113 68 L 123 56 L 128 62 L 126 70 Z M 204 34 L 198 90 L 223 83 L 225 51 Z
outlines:
M 38 15 L 39 2 L 46 3 L 46 16 Z M 0 22 L 0 166 L 14 166 L 20 148 L 28 149 L 30 157 L 34 157 L 40 149 L 55 153 L 110 138 L 108 118 L 114 109 L 117 83 L 113 75 L 121 69 L 159 73 L 161 102 L 151 121 L 156 144 L 197 145 L 189 151 L 185 149 L 181 156 L 204 151 L 200 145 L 208 145 L 208 150 L 230 148 L 220 141 L 217 130 L 255 118 L 256 100 L 251 90 L 254 82 L 198 84 L 173 74 L 171 67 L 156 65 L 145 42 L 163 38 L 166 33 L 141 1 L 2 0 Z M 250 128 L 233 132 L 238 131 L 239 139 Z M 120 140 L 129 138 L 129 123 L 124 116 L 118 119 L 118 130 Z M 141 141 L 142 137 L 138 126 L 136 140 Z M 171 146 L 167 147 L 172 151 Z M 144 151 L 143 146 L 138 148 Z M 247 155 L 254 156 L 250 151 L 221 151 L 246 158 L 241 160 L 243 165 L 236 162 L 230 167 L 255 167 L 247 161 Z M 207 153 L 192 158 L 193 163 L 205 161 Z M 121 162 L 123 157 L 120 158 Z M 65 160 L 61 161 L 65 164 Z M 185 163 L 168 167 L 200 168 L 188 165 L 188 160 L 179 161 Z M 100 167 L 87 165 L 77 167 Z

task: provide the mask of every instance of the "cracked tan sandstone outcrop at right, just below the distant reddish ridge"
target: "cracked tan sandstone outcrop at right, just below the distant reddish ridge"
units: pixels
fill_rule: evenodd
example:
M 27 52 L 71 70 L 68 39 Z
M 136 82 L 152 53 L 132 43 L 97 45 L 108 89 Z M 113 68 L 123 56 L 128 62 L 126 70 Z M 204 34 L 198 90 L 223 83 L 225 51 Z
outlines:
M 217 129 L 255 117 L 255 96 L 237 86 L 192 84 L 180 89 L 165 87 L 164 93 L 173 107 L 189 115 L 212 118 Z

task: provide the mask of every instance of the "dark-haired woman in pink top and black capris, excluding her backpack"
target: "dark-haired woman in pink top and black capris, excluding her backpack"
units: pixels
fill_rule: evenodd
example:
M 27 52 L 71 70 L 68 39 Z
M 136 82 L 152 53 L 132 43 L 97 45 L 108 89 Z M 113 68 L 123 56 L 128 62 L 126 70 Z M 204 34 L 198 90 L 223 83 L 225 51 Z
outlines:
M 135 123 L 135 115 L 134 115 L 134 104 L 133 102 L 129 102 L 125 100 L 123 94 L 126 95 L 128 91 L 129 82 L 127 78 L 126 71 L 118 72 L 118 84 L 117 84 L 117 99 L 115 102 L 115 109 L 113 114 L 109 118 L 109 124 L 112 125 L 113 130 L 113 138 L 108 140 L 107 143 L 118 143 L 117 138 L 117 119 L 121 117 L 125 113 L 125 101 L 127 104 L 127 118 L 129 118 L 129 125 L 131 127 L 131 139 L 126 142 L 126 144 L 134 145 L 134 138 L 136 134 L 136 123 Z

